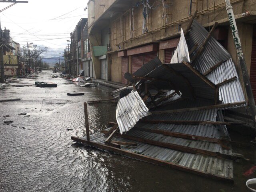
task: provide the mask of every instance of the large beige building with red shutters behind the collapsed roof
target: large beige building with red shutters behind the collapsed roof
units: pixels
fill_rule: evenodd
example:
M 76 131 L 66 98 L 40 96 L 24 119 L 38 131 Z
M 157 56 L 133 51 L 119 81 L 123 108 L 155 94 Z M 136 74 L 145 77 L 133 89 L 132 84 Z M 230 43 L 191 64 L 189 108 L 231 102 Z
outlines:
M 256 97 L 256 1 L 231 3 Z M 218 22 L 213 35 L 230 52 L 239 71 L 224 0 L 89 0 L 88 33 L 95 77 L 128 84 L 124 74 L 135 72 L 152 58 L 158 56 L 169 63 L 181 28 L 187 29 L 196 10 L 195 19 L 207 30 Z M 102 58 L 106 58 L 105 64 Z

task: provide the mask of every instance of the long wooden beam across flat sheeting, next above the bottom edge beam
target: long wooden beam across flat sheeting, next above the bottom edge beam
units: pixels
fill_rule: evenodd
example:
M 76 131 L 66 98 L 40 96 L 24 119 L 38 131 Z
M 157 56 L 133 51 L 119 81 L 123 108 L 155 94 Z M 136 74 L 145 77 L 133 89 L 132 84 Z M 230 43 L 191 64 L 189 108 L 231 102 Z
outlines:
M 200 155 L 204 155 L 204 156 L 211 156 L 211 157 L 229 159 L 229 160 L 244 159 L 243 157 L 240 157 L 240 156 L 222 154 L 219 152 L 212 152 L 212 151 L 208 151 L 208 150 L 192 148 L 192 147 L 187 147 L 187 146 L 182 146 L 182 145 L 172 144 L 172 143 L 167 143 L 167 142 L 160 142 L 160 141 L 156 141 L 156 140 L 130 136 L 128 134 L 116 134 L 115 136 L 133 140 L 133 141 L 146 143 L 146 144 L 150 144 L 150 145 L 155 145 L 155 146 L 159 146 L 159 147 L 165 147 L 165 148 L 169 148 L 169 149 L 173 149 L 173 150 L 178 150 L 178 151 L 182 151 L 182 152 L 186 152 L 186 153 L 200 154 Z

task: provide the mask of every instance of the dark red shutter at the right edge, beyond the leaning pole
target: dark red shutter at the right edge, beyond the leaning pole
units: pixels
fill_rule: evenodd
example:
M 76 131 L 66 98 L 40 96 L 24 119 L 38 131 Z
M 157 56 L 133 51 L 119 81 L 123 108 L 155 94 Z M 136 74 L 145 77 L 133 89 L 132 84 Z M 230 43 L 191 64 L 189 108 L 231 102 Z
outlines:
M 256 101 L 256 36 L 252 38 L 252 57 L 250 68 L 250 82 L 252 86 L 252 92 L 254 100 Z

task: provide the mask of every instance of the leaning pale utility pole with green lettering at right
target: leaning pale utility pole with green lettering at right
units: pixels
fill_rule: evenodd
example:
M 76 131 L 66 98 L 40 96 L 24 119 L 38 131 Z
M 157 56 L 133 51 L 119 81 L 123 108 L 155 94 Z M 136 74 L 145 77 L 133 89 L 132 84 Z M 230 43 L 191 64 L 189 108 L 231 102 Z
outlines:
M 256 125 L 256 106 L 255 106 L 254 96 L 252 93 L 252 87 L 251 87 L 251 83 L 250 83 L 249 74 L 248 74 L 246 63 L 244 60 L 244 54 L 242 52 L 242 45 L 240 42 L 240 38 L 239 38 L 237 26 L 236 26 L 236 20 L 235 20 L 235 16 L 234 16 L 234 12 L 233 12 L 233 8 L 231 6 L 230 0 L 225 0 L 225 2 L 226 2 L 226 10 L 228 12 L 228 20 L 230 22 L 230 28 L 231 28 L 232 35 L 233 35 L 234 45 L 236 47 L 236 54 L 238 56 L 239 64 L 242 69 L 244 86 L 245 86 L 246 93 L 248 96 L 250 109 L 252 111 L 252 116 L 253 116 L 253 121 L 254 121 L 254 126 L 255 126 Z

